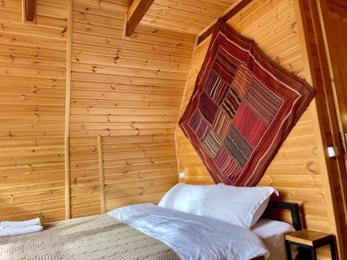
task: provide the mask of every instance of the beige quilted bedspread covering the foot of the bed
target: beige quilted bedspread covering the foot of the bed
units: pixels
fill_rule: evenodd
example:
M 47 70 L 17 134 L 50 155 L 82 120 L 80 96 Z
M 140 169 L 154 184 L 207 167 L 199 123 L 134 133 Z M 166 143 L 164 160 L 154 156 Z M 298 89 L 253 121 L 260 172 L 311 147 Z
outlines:
M 164 243 L 107 215 L 63 220 L 42 232 L 0 238 L 0 259 L 177 260 Z

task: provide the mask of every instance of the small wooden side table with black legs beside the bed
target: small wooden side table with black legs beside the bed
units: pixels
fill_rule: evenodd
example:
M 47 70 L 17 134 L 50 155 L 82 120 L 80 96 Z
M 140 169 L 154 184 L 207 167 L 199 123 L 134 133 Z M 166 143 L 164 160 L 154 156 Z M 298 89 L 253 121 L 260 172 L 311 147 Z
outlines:
M 324 245 L 330 245 L 332 260 L 337 260 L 335 251 L 335 241 L 332 234 L 315 232 L 312 230 L 302 229 L 285 235 L 285 245 L 287 248 L 287 259 L 291 260 L 291 245 L 297 245 L 299 248 L 311 250 L 312 260 L 316 260 L 316 249 Z M 300 259 L 300 258 L 299 258 Z M 306 258 L 305 258 L 306 259 Z

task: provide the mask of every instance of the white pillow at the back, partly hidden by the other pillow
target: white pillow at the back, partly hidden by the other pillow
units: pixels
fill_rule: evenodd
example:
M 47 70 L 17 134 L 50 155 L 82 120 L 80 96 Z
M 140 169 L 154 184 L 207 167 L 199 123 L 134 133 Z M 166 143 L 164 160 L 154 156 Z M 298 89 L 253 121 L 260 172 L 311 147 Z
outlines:
M 189 185 L 178 183 L 162 197 L 158 206 L 196 214 L 203 198 L 217 185 Z

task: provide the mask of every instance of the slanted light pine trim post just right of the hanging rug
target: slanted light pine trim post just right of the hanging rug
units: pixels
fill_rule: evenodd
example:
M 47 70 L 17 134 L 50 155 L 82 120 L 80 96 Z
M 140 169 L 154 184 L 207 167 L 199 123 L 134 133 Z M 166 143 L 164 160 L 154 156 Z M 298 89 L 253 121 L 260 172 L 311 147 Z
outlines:
M 305 10 L 303 7 L 302 0 L 294 0 L 294 12 L 296 15 L 296 22 L 298 24 L 298 35 L 300 38 L 302 50 L 303 50 L 303 60 L 305 64 L 306 71 L 305 80 L 310 85 L 316 85 L 316 75 L 314 72 L 314 62 L 313 57 L 311 55 L 311 44 L 310 39 L 307 35 L 307 24 L 305 18 Z M 337 238 L 337 248 L 339 251 L 339 259 L 344 259 L 344 251 L 342 245 L 342 237 L 341 237 L 341 229 L 339 225 L 339 216 L 337 212 L 337 205 L 335 200 L 335 190 L 334 190 L 334 182 L 332 180 L 332 172 L 330 168 L 330 162 L 328 158 L 327 152 L 327 141 L 325 138 L 325 128 L 323 125 L 323 119 L 321 115 L 321 106 L 323 104 L 320 101 L 319 94 L 312 101 L 312 120 L 314 123 L 314 129 L 316 131 L 316 141 L 317 141 L 317 153 L 320 157 L 321 162 L 321 171 L 323 177 L 323 189 L 325 192 L 325 198 L 328 200 L 328 218 L 330 220 L 330 231 L 335 234 Z

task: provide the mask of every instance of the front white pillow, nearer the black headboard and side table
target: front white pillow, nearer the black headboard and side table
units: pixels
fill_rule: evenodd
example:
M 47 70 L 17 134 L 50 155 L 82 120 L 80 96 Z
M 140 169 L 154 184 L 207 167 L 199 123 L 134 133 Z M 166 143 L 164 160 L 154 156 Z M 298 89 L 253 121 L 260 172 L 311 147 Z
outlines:
M 201 202 L 198 215 L 250 229 L 262 216 L 273 187 L 233 187 L 218 184 Z

